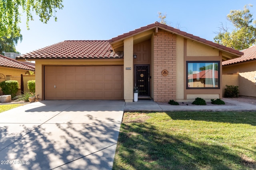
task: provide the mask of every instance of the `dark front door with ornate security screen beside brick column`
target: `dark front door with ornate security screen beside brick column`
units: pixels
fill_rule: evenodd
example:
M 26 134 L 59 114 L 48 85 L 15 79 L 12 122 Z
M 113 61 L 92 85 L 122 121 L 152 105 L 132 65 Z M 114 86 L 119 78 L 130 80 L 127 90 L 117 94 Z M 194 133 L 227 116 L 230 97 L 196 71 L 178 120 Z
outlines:
M 150 97 L 149 64 L 134 65 L 134 84 L 139 89 L 138 97 Z

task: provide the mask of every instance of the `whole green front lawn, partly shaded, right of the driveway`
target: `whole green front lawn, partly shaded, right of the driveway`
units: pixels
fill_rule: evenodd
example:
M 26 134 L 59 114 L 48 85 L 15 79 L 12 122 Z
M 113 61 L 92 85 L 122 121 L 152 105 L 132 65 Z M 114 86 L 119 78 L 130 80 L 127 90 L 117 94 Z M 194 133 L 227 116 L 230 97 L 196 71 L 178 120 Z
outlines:
M 255 112 L 127 112 L 113 169 L 253 170 L 255 160 Z

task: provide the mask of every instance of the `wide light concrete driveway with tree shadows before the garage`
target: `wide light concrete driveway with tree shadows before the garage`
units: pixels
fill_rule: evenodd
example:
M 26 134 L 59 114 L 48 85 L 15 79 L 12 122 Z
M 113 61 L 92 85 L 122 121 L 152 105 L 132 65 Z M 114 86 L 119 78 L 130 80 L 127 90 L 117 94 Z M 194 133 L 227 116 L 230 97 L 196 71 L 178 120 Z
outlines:
M 0 170 L 112 169 L 124 101 L 42 101 L 0 113 Z

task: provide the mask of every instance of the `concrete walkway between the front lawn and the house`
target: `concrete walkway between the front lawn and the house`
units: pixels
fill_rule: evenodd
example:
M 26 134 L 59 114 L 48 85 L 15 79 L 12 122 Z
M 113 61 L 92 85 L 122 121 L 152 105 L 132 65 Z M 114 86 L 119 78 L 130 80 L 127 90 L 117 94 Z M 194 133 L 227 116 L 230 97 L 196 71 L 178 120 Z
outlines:
M 225 103 L 232 104 L 232 106 L 158 105 L 152 100 L 138 100 L 138 102 L 126 103 L 124 111 L 256 111 L 256 105 L 253 104 L 238 102 L 230 98 L 223 98 L 222 100 Z

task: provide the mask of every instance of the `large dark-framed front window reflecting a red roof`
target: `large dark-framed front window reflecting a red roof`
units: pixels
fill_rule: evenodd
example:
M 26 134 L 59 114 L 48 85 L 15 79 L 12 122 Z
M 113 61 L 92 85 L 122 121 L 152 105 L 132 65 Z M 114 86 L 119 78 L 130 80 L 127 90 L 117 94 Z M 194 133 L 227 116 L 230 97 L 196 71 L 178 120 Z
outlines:
M 220 61 L 187 61 L 187 89 L 219 89 Z

